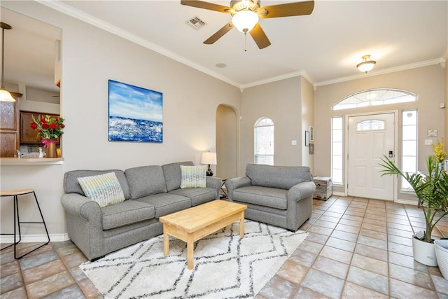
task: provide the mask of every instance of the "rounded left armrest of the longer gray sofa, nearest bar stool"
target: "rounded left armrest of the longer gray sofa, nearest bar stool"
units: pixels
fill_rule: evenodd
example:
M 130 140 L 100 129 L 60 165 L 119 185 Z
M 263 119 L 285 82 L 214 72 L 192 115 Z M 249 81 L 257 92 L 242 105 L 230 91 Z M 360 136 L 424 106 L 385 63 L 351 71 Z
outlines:
M 68 214 L 78 216 L 90 223 L 101 225 L 101 208 L 97 202 L 78 193 L 64 193 L 61 197 L 62 207 Z

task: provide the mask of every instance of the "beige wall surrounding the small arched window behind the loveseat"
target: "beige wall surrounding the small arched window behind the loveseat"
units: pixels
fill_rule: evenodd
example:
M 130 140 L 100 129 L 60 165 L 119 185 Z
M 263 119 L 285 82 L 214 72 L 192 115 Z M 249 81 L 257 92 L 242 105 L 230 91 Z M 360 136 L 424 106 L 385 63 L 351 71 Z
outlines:
M 262 117 L 274 122 L 274 165 L 302 165 L 301 90 L 300 76 L 244 90 L 241 98 L 241 174 L 245 173 L 247 163 L 253 163 L 253 125 Z M 309 107 L 313 114 L 311 110 Z M 297 145 L 291 145 L 293 140 Z

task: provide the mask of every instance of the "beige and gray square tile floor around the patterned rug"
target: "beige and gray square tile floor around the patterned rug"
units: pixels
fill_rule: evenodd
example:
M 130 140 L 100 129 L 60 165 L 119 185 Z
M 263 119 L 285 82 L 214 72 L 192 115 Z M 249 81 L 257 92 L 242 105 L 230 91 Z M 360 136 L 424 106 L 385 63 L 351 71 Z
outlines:
M 413 206 L 333 196 L 314 200 L 301 230 L 309 236 L 256 296 L 271 298 L 443 298 L 448 281 L 438 267 L 412 258 L 413 230 L 422 230 Z M 448 220 L 434 232 L 448 236 Z M 2 244 L 5 246 L 6 244 Z M 21 244 L 20 250 L 34 244 Z M 68 242 L 52 242 L 20 260 L 1 251 L 0 297 L 102 298 L 78 265 L 87 260 Z

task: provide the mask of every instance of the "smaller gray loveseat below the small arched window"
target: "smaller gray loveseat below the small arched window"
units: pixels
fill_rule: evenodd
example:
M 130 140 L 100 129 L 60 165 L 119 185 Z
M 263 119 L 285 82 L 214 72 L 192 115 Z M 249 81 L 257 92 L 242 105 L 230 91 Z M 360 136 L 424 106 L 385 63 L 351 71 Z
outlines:
M 255 164 L 225 187 L 230 201 L 247 205 L 246 218 L 293 231 L 311 216 L 316 190 L 309 167 Z

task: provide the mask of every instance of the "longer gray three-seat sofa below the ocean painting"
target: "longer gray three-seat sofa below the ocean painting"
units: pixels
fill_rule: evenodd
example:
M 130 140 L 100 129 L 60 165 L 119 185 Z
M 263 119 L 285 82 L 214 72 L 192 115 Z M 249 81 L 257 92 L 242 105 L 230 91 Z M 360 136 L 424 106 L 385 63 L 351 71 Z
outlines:
M 221 179 L 207 176 L 206 188 L 181 189 L 180 165 L 176 162 L 118 170 L 73 170 L 64 174 L 62 206 L 66 211 L 71 241 L 89 260 L 95 260 L 125 246 L 163 232 L 158 218 L 182 209 L 219 199 Z M 85 197 L 78 177 L 114 172 L 125 201 L 99 207 Z

